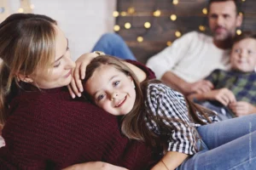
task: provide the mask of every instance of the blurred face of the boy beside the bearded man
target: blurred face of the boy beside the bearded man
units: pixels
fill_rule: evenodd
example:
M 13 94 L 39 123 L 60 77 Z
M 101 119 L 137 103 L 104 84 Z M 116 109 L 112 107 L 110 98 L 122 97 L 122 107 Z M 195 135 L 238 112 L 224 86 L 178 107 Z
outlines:
M 256 66 L 256 40 L 245 38 L 236 42 L 230 54 L 232 69 L 242 72 L 254 71 Z

